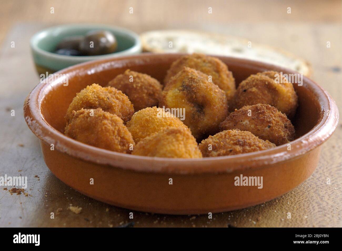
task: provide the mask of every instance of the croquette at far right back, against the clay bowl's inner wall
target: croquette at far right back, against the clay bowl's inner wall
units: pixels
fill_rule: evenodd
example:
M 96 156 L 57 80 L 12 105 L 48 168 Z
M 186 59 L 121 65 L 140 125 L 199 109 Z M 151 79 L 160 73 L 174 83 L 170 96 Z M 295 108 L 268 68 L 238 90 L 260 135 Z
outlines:
M 279 75 L 277 75 L 279 74 Z M 277 77 L 276 77 L 277 76 Z M 287 117 L 293 118 L 298 106 L 298 97 L 293 84 L 276 71 L 259 72 L 239 84 L 234 96 L 234 108 L 246 105 L 268 104 L 276 107 Z

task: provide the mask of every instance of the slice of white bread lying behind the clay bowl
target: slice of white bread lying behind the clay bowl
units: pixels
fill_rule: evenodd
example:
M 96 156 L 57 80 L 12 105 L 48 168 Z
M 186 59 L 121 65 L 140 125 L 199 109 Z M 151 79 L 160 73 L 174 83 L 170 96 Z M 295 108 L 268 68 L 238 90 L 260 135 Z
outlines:
M 140 38 L 145 52 L 224 55 L 279 65 L 306 76 L 312 71 L 308 62 L 291 53 L 254 42 L 249 47 L 244 38 L 192 30 L 153 30 Z

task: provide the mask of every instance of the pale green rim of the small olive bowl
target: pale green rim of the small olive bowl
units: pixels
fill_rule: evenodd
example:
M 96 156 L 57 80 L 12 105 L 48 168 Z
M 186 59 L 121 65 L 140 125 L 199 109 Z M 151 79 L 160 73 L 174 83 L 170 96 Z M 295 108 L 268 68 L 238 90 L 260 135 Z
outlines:
M 104 55 L 95 55 L 95 56 L 67 56 L 67 55 L 60 55 L 57 53 L 53 53 L 50 51 L 45 51 L 43 49 L 40 49 L 38 47 L 38 41 L 40 41 L 46 32 L 51 32 L 56 29 L 71 29 L 71 28 L 93 28 L 93 29 L 108 29 L 108 30 L 116 30 L 119 33 L 128 35 L 134 40 L 134 45 L 126 50 L 119 51 L 119 52 L 113 52 L 109 54 Z M 63 25 L 56 25 L 47 27 L 45 29 L 42 29 L 38 32 L 36 32 L 30 39 L 30 47 L 33 51 L 36 53 L 44 56 L 44 57 L 53 57 L 56 60 L 72 60 L 72 61 L 79 61 L 79 62 L 86 62 L 86 61 L 92 61 L 92 60 L 100 60 L 103 58 L 111 58 L 113 56 L 121 56 L 121 55 L 127 55 L 129 53 L 134 53 L 137 51 L 140 51 L 142 49 L 142 43 L 140 40 L 140 37 L 138 34 L 136 34 L 134 31 L 131 31 L 126 28 L 118 27 L 118 26 L 111 26 L 111 25 L 105 25 L 105 24 L 63 24 Z

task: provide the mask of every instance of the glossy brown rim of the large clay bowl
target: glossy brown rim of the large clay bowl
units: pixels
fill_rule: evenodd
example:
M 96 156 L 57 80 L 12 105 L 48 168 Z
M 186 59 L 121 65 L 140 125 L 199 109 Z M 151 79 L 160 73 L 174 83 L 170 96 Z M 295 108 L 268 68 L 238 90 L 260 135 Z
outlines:
M 176 59 L 182 55 L 185 55 L 185 53 L 144 53 L 124 57 L 113 57 L 106 60 L 95 60 L 70 66 L 55 72 L 55 74 L 66 74 L 77 71 L 77 74 L 79 75 L 80 69 L 86 74 L 90 69 L 94 72 L 99 72 L 103 69 L 113 68 L 113 65 L 115 64 L 111 63 L 117 61 L 128 62 L 131 60 L 136 64 L 141 64 L 144 59 L 148 62 L 153 62 L 153 60 L 156 60 L 157 58 L 174 57 Z M 293 70 L 259 61 L 228 56 L 215 55 L 215 57 L 220 59 L 224 58 L 231 61 L 231 64 L 237 66 L 246 66 L 246 64 L 248 64 L 251 67 L 265 68 L 265 70 L 274 69 L 290 74 L 298 74 L 298 72 Z M 266 167 L 271 164 L 301 156 L 321 145 L 332 135 L 339 120 L 338 108 L 332 97 L 313 80 L 303 76 L 303 86 L 310 89 L 318 97 L 321 114 L 314 128 L 290 142 L 291 150 L 287 150 L 288 146 L 287 144 L 284 144 L 252 153 L 198 159 L 135 156 L 117 153 L 78 142 L 50 126 L 41 113 L 40 104 L 44 95 L 49 91 L 52 91 L 53 85 L 63 84 L 63 82 L 61 79 L 55 79 L 51 83 L 49 82 L 50 81 L 48 81 L 48 83 L 41 82 L 36 85 L 25 100 L 24 117 L 30 130 L 44 143 L 49 145 L 54 144 L 55 150 L 68 154 L 71 157 L 131 171 L 200 174 L 226 173 L 249 168 Z M 327 109 L 325 109 L 325 107 L 327 107 Z M 328 110 L 330 112 L 326 112 Z

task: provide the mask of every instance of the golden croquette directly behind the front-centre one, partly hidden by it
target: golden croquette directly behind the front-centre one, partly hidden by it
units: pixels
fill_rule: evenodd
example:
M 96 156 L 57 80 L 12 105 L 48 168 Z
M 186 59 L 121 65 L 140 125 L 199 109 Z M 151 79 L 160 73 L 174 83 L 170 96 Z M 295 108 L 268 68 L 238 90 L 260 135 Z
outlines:
M 159 132 L 165 127 L 181 127 L 191 133 L 190 129 L 179 118 L 163 108 L 155 106 L 147 107 L 134 113 L 126 126 L 131 132 L 135 143 L 153 133 Z

